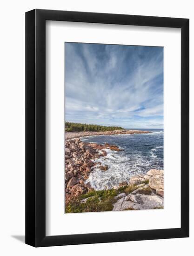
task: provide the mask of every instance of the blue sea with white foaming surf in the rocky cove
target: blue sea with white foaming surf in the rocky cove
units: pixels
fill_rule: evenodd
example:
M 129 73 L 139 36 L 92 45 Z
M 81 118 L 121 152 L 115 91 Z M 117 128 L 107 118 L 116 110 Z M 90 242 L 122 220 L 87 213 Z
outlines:
M 86 182 L 96 190 L 111 189 L 120 182 L 128 182 L 135 174 L 146 174 L 152 168 L 163 169 L 163 129 L 138 129 L 150 134 L 97 135 L 80 138 L 84 142 L 115 144 L 123 151 L 105 149 L 107 156 L 95 162 L 108 165 L 107 171 L 95 167 Z

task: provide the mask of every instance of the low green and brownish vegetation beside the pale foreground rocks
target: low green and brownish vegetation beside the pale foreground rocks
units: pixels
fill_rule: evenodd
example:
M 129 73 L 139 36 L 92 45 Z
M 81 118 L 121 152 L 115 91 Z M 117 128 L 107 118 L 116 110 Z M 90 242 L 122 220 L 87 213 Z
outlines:
M 130 194 L 137 189 L 136 185 L 127 185 L 118 189 L 108 190 L 92 190 L 87 194 L 82 194 L 75 198 L 66 205 L 66 213 L 78 213 L 78 212 L 100 212 L 100 211 L 112 211 L 113 204 L 117 200 L 114 198 L 120 193 Z M 88 199 L 87 199 L 88 198 Z M 87 199 L 85 202 L 83 199 Z

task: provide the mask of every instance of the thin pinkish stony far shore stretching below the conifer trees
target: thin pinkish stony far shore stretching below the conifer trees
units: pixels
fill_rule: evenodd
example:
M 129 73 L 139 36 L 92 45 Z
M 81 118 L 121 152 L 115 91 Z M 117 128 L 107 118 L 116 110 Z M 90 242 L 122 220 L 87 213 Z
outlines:
M 152 133 L 151 131 L 142 131 L 142 130 L 114 130 L 114 131 L 105 131 L 105 132 L 65 132 L 65 139 L 75 139 L 86 136 L 94 135 L 120 135 L 120 134 L 147 134 Z

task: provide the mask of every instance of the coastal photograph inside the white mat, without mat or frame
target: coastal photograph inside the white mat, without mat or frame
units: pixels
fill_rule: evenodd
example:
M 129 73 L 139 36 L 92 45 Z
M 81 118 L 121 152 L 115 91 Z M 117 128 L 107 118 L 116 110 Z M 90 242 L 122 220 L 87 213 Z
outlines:
M 163 209 L 163 47 L 65 42 L 65 213 Z

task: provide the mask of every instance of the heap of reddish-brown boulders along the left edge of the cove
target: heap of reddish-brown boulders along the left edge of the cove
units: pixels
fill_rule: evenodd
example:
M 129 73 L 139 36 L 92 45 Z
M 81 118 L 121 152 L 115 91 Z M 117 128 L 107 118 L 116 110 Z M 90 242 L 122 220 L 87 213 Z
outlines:
M 92 168 L 96 165 L 94 160 L 107 155 L 107 152 L 103 150 L 104 148 L 120 150 L 116 145 L 108 143 L 99 145 L 97 143 L 85 143 L 80 141 L 80 139 L 65 142 L 66 204 L 72 198 L 92 190 L 90 183 L 85 183 L 85 181 L 89 177 Z M 100 169 L 106 171 L 108 166 L 100 166 Z

